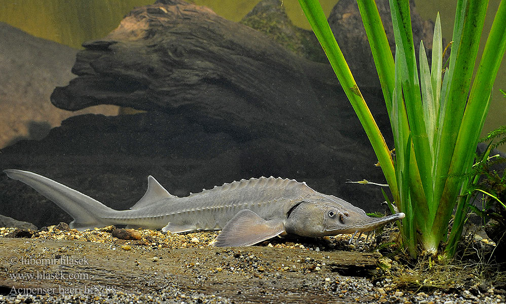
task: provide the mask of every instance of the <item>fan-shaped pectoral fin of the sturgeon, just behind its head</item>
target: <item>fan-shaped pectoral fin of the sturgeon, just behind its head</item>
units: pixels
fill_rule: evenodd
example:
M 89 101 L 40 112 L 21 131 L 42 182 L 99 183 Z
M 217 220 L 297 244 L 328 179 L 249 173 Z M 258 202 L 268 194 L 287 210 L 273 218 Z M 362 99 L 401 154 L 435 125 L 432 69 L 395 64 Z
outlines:
M 265 220 L 251 210 L 241 210 L 216 237 L 216 247 L 251 246 L 282 234 L 282 220 Z

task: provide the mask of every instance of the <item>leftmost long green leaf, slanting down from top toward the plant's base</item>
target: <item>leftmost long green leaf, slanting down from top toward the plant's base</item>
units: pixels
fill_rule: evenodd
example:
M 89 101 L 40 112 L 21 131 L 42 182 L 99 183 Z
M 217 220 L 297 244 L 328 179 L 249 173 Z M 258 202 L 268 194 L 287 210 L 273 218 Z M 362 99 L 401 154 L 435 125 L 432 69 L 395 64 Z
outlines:
M 299 0 L 299 3 L 309 21 L 309 24 L 313 28 L 314 34 L 320 42 L 321 47 L 327 54 L 341 86 L 343 87 L 351 106 L 358 116 L 358 120 L 362 123 L 362 126 L 371 141 L 371 145 L 373 146 L 378 161 L 380 162 L 381 169 L 390 186 L 392 195 L 397 197 L 397 181 L 395 180 L 395 170 L 393 167 L 393 160 L 390 155 L 390 149 L 386 145 L 386 142 L 378 128 L 378 125 L 374 121 L 364 97 L 358 90 L 358 86 L 353 79 L 353 75 L 351 74 L 343 53 L 336 42 L 334 34 L 330 29 L 329 23 L 327 22 L 319 2 L 317 0 Z

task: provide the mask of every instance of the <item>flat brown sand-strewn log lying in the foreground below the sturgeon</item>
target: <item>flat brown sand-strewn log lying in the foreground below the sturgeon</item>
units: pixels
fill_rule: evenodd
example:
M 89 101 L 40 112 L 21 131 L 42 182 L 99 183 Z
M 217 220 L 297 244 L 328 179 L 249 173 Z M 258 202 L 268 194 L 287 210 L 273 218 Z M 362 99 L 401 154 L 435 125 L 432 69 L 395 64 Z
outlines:
M 0 247 L 3 294 L 15 288 L 21 293 L 100 297 L 152 293 L 171 286 L 180 292 L 198 291 L 250 303 L 266 299 L 328 302 L 337 297 L 339 302 L 353 301 L 341 290 L 346 280 L 341 274 L 368 276 L 379 257 L 376 253 L 268 247 L 132 246 L 124 250 L 118 244 L 6 238 L 0 238 Z

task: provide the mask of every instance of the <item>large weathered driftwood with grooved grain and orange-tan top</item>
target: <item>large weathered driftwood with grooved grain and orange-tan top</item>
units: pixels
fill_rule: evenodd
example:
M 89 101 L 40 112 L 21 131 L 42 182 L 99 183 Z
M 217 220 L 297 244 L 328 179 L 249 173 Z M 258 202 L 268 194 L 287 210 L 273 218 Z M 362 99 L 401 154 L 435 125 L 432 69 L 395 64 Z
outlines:
M 333 136 L 320 126 L 324 105 L 313 87 L 336 87 L 330 66 L 205 7 L 176 0 L 136 8 L 109 35 L 83 46 L 73 68 L 79 77 L 51 96 L 59 108 L 116 104 L 246 136 Z

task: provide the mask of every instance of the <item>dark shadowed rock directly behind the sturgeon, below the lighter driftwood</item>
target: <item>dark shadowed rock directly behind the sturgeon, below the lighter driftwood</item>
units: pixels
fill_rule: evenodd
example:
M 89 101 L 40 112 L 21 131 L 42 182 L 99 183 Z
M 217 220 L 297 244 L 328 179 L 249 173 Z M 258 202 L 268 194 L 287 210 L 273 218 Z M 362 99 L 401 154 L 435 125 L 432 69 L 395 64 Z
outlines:
M 44 140 L 21 141 L 5 148 L 0 160 L 3 168 L 43 174 L 118 210 L 131 207 L 142 197 L 150 174 L 178 195 L 241 178 L 290 177 L 366 210 L 378 208 L 381 193 L 375 193 L 377 188 L 345 183 L 364 175 L 376 181 L 381 178 L 372 165 L 374 156 L 364 153 L 365 144 L 347 140 L 349 146 L 363 150 L 346 153 L 344 148 L 308 142 L 315 147 L 306 149 L 263 137 L 244 141 L 163 113 L 109 118 L 89 115 L 64 121 Z M 367 163 L 370 169 L 358 165 Z M 2 213 L 40 226 L 72 220 L 29 186 L 6 175 L 0 175 L 0 184 Z M 23 206 L 22 212 L 16 206 Z

